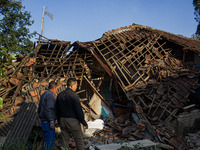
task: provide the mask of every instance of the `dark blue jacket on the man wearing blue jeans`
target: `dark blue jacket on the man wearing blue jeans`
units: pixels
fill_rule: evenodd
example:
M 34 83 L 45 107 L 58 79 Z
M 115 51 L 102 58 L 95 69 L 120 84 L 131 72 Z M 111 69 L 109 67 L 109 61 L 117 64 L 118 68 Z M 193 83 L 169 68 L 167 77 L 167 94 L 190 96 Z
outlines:
M 55 94 L 47 90 L 40 96 L 40 103 L 38 106 L 39 117 L 48 121 L 56 120 L 56 99 Z

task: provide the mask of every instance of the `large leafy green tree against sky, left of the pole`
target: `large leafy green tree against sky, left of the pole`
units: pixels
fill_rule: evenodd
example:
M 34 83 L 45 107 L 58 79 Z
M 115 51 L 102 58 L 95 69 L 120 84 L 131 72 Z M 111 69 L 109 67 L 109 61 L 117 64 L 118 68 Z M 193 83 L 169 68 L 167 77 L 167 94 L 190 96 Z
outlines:
M 0 1 L 0 47 L 8 53 L 26 54 L 33 49 L 28 26 L 33 24 L 31 15 L 22 3 L 14 0 Z

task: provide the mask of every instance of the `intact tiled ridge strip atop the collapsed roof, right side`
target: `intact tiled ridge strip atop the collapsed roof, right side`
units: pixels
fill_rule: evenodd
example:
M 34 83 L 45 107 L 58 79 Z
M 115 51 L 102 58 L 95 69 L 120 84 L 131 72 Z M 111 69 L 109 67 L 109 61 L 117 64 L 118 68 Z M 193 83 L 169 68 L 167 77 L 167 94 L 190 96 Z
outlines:
M 177 43 L 177 44 L 183 46 L 184 49 L 186 49 L 186 50 L 193 50 L 193 51 L 200 52 L 200 40 L 184 37 L 181 35 L 176 35 L 173 33 L 169 33 L 166 31 L 162 31 L 159 29 L 142 26 L 142 25 L 138 25 L 138 24 L 134 24 L 132 26 L 125 26 L 125 27 L 121 27 L 118 29 L 113 29 L 113 30 L 107 31 L 103 34 L 102 38 L 106 38 L 108 36 L 116 35 L 116 34 L 119 34 L 119 36 L 125 35 L 126 37 L 128 37 L 131 35 L 130 32 L 132 32 L 132 35 L 133 35 L 134 32 L 141 32 L 141 31 L 146 32 L 146 33 L 151 33 L 151 34 L 158 34 L 158 35 L 161 34 L 162 38 L 169 40 L 171 42 Z

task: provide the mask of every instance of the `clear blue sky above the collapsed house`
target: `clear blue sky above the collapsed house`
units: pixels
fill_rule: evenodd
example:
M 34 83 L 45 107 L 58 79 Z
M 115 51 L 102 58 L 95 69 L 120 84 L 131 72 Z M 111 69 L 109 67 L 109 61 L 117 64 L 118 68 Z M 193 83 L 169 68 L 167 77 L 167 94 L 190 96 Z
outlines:
M 23 0 L 22 5 L 34 20 L 30 32 L 41 33 L 45 6 L 53 20 L 45 15 L 43 36 L 72 43 L 94 41 L 133 23 L 185 37 L 197 28 L 192 0 Z

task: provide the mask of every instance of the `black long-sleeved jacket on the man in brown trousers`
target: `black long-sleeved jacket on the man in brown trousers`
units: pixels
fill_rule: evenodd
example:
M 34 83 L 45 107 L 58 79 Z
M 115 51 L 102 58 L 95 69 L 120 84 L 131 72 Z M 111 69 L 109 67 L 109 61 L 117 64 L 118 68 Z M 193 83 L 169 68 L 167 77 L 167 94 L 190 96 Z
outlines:
M 79 96 L 70 88 L 67 88 L 58 94 L 56 100 L 56 110 L 58 121 L 60 117 L 75 118 L 78 119 L 84 126 L 87 125 L 84 119 Z

